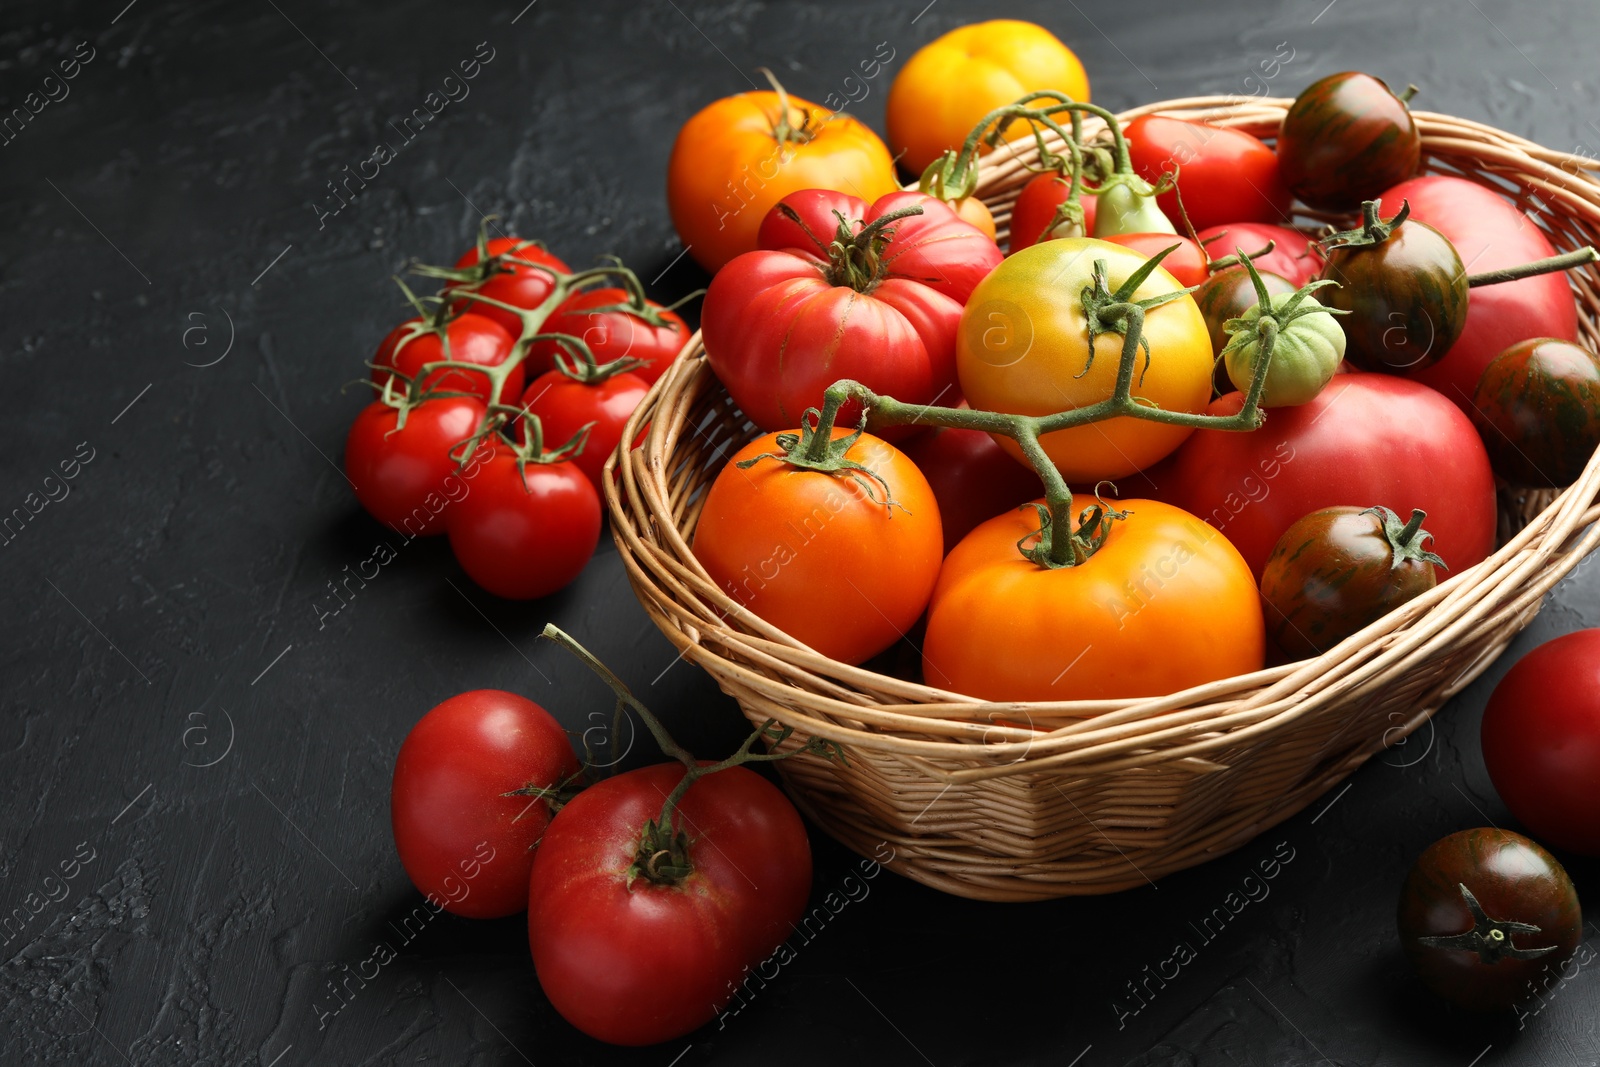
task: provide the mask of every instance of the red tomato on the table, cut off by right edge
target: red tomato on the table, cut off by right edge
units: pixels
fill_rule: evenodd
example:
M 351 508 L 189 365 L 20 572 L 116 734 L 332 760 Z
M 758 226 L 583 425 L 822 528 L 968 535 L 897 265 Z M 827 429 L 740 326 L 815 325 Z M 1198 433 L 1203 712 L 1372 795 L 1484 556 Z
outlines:
M 1506 672 L 1483 712 L 1483 763 L 1530 832 L 1600 856 L 1600 630 L 1546 641 Z

